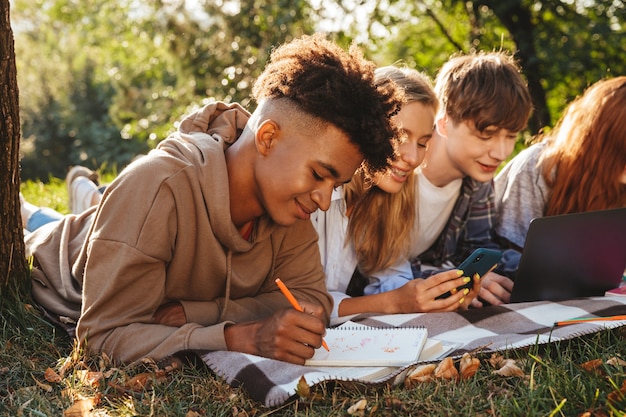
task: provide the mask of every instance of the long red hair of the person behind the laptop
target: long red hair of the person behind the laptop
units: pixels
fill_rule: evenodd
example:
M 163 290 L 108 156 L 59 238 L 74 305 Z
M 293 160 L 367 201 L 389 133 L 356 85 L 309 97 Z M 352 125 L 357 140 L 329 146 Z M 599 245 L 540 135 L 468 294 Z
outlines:
M 589 87 L 545 139 L 546 216 L 626 206 L 626 76 Z

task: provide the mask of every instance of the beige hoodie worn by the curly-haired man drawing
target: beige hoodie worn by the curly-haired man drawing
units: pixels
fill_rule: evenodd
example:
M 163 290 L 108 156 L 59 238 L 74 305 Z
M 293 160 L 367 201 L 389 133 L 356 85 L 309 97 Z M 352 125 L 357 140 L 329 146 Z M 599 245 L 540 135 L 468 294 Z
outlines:
M 224 324 L 289 306 L 276 276 L 328 317 L 332 299 L 310 221 L 281 227 L 264 216 L 250 241 L 231 221 L 224 150 L 248 118 L 236 104 L 207 105 L 120 173 L 97 210 L 27 237 L 39 303 L 78 318 L 82 288 L 77 335 L 90 350 L 122 362 L 224 350 Z M 171 301 L 183 304 L 188 324 L 153 323 Z

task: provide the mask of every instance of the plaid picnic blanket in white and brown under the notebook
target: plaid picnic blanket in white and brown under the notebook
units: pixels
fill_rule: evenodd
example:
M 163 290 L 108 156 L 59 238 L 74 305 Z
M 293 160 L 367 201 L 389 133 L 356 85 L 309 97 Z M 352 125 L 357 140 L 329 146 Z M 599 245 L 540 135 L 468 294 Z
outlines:
M 460 347 L 452 351 L 450 356 L 460 357 L 477 348 L 482 348 L 481 352 L 503 351 L 620 327 L 626 325 L 626 320 L 567 326 L 555 326 L 555 322 L 576 317 L 622 314 L 626 314 L 626 297 L 590 297 L 560 302 L 507 304 L 449 313 L 363 315 L 353 317 L 352 321 L 374 327 L 423 326 L 428 330 L 429 338 L 458 343 Z M 323 381 L 346 380 L 328 368 L 293 365 L 238 352 L 197 353 L 227 383 L 233 387 L 243 387 L 252 399 L 268 407 L 279 406 L 296 395 L 301 377 L 309 386 Z M 406 373 L 417 363 L 399 368 L 382 381 L 351 381 L 363 384 L 401 382 L 403 378 L 398 378 L 398 375 Z

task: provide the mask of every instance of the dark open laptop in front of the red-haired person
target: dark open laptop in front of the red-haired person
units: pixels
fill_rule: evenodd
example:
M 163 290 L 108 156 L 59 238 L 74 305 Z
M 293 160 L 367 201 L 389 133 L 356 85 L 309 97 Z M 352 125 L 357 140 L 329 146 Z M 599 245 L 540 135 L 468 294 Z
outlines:
M 626 207 L 530 222 L 511 302 L 604 295 L 626 269 Z

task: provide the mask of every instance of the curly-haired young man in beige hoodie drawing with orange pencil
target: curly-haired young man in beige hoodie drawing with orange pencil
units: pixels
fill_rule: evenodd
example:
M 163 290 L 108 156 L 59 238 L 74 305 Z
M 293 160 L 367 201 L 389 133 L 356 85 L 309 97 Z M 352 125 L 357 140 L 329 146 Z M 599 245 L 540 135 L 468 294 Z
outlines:
M 97 207 L 27 236 L 37 301 L 118 362 L 233 350 L 304 363 L 332 309 L 309 217 L 364 161 L 378 172 L 393 157 L 401 94 L 374 69 L 322 35 L 277 48 L 252 114 L 205 106 Z

